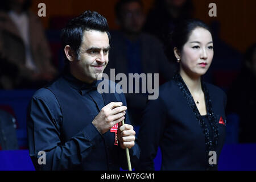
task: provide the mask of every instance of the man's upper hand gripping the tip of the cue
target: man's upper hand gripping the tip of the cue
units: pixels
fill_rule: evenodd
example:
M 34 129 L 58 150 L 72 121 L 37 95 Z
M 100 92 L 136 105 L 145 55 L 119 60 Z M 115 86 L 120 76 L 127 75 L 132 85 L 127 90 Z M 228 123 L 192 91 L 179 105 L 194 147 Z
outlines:
M 125 119 L 126 106 L 122 102 L 110 102 L 104 106 L 100 113 L 93 119 L 92 123 L 101 134 L 109 131 L 116 123 Z

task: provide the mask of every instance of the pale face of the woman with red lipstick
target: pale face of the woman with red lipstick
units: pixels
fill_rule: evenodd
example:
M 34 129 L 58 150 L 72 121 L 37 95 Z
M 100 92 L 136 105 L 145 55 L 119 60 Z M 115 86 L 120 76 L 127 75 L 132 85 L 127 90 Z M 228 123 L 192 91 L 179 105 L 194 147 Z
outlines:
M 195 28 L 180 52 L 180 69 L 191 76 L 202 76 L 210 67 L 212 58 L 212 35 L 204 28 Z

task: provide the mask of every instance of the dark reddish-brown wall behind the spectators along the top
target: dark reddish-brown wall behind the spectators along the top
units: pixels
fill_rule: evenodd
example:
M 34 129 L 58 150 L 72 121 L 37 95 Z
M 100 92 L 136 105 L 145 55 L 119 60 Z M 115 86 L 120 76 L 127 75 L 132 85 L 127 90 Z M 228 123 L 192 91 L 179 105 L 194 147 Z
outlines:
M 117 29 L 115 23 L 114 5 L 117 0 L 81 1 L 81 0 L 34 0 L 32 11 L 38 13 L 38 4 L 46 4 L 46 17 L 40 18 L 45 28 L 49 28 L 49 22 L 55 16 L 75 16 L 84 10 L 98 11 L 108 19 L 111 29 Z M 153 0 L 143 0 L 144 10 L 147 12 L 154 5 Z M 209 3 L 216 3 L 217 17 L 209 17 Z M 226 43 L 240 52 L 256 42 L 256 1 L 255 0 L 193 0 L 195 18 L 200 18 L 207 23 L 213 20 L 220 22 L 220 37 Z

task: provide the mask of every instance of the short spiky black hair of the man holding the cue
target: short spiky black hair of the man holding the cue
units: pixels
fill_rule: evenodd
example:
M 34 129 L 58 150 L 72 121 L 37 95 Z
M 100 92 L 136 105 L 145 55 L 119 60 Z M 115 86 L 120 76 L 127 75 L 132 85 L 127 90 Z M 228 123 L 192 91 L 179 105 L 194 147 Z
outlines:
M 69 45 L 79 59 L 82 37 L 85 30 L 98 30 L 109 34 L 106 18 L 96 11 L 84 11 L 80 16 L 71 19 L 61 30 L 61 44 L 64 50 Z

